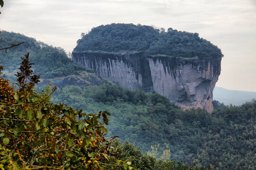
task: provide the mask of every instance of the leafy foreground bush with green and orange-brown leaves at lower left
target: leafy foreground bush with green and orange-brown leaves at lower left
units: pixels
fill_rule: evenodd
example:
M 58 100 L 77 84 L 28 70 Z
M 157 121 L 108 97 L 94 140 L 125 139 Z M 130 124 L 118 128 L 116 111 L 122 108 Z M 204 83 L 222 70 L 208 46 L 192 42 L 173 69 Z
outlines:
M 107 111 L 86 114 L 64 103 L 51 104 L 56 88 L 37 95 L 29 54 L 22 58 L 18 90 L 0 78 L 0 169 L 134 169 L 119 161 L 104 135 Z M 0 71 L 2 71 L 0 68 Z M 100 122 L 103 117 L 103 123 Z

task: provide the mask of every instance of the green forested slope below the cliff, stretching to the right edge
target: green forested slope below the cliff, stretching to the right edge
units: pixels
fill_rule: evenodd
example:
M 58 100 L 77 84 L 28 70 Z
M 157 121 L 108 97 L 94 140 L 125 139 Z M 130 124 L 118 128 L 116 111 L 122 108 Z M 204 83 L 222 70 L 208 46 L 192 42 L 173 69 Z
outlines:
M 158 158 L 221 170 L 256 168 L 256 101 L 221 105 L 209 114 L 202 109 L 183 111 L 158 93 L 116 85 L 68 86 L 55 93 L 54 101 L 89 113 L 110 111 L 110 136 L 120 136 Z

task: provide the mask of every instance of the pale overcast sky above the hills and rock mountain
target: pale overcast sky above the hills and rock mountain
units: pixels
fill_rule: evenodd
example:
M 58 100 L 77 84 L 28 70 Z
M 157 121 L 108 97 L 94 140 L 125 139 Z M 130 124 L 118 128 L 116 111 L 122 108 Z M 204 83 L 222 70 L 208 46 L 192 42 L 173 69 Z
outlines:
M 4 0 L 0 29 L 72 52 L 81 33 L 111 23 L 198 33 L 224 57 L 216 86 L 256 92 L 256 0 Z

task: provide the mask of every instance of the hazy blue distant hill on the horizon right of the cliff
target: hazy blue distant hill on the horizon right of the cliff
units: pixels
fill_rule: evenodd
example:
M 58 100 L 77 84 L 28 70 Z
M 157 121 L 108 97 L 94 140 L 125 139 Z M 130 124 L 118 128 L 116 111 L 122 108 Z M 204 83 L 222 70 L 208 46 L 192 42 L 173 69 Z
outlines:
M 256 99 L 256 92 L 227 90 L 221 87 L 215 87 L 213 90 L 213 99 L 224 104 L 241 105 Z

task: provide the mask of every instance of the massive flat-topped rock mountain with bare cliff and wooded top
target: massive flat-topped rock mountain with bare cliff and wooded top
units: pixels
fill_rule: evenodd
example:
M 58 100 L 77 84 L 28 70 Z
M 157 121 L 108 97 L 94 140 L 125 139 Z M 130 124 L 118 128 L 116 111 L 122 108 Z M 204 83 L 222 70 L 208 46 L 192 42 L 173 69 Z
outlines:
M 213 110 L 223 55 L 197 33 L 111 24 L 93 28 L 77 43 L 73 60 L 113 83 L 156 91 L 183 109 Z

